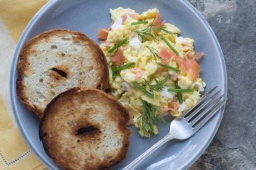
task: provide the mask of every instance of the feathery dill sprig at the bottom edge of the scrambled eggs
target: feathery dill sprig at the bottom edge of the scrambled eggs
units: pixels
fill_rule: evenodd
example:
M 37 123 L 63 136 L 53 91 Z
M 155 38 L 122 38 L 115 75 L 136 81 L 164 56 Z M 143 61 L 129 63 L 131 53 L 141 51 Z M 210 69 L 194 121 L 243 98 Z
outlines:
M 137 124 L 145 136 L 150 136 L 154 132 L 156 121 L 165 122 L 160 107 L 142 100 L 142 115 L 137 118 Z

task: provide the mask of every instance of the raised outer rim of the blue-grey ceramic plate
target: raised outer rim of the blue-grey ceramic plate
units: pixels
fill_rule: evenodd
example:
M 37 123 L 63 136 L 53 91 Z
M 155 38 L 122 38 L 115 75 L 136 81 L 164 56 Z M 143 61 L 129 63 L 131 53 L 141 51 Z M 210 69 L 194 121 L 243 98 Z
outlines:
M 49 161 L 45 160 L 44 156 L 42 156 L 40 153 L 38 153 L 36 151 L 36 147 L 32 144 L 32 142 L 29 139 L 30 137 L 28 137 L 25 134 L 24 129 L 22 127 L 20 117 L 18 114 L 19 110 L 17 109 L 17 105 L 15 103 L 15 91 L 16 91 L 15 90 L 15 87 L 16 87 L 16 84 L 15 84 L 15 82 L 16 82 L 16 78 L 15 78 L 16 67 L 15 67 L 15 65 L 17 63 L 17 60 L 19 59 L 19 57 L 17 57 L 17 56 L 19 56 L 20 49 L 22 48 L 22 44 L 23 44 L 22 42 L 24 42 L 24 38 L 30 32 L 30 29 L 32 28 L 33 24 L 35 24 L 36 21 L 38 20 L 38 18 L 40 18 L 40 16 L 42 14 L 44 14 L 45 10 L 48 10 L 48 7 L 53 6 L 58 1 L 59 0 L 49 0 L 48 2 L 46 2 L 46 4 L 43 7 L 41 7 L 41 9 L 38 10 L 38 12 L 36 12 L 36 14 L 32 17 L 30 22 L 28 22 L 27 26 L 23 30 L 23 33 L 21 34 L 19 41 L 17 42 L 17 46 L 15 47 L 15 51 L 12 56 L 13 58 L 12 58 L 12 63 L 11 63 L 11 73 L 10 73 L 10 80 L 9 80 L 9 92 L 11 95 L 11 106 L 12 106 L 12 111 L 14 113 L 15 121 L 17 123 L 17 126 L 19 127 L 19 131 L 22 134 L 23 139 L 25 139 L 25 142 L 27 143 L 30 150 L 32 150 L 32 152 L 36 155 L 36 157 L 38 159 L 40 159 L 40 161 L 42 161 L 50 169 L 54 169 L 54 167 L 49 163 Z M 203 15 L 200 12 L 194 6 L 192 6 L 192 4 L 190 4 L 189 1 L 186 1 L 186 0 L 178 0 L 178 1 L 180 1 L 182 4 L 184 4 L 184 6 L 186 6 L 188 9 L 190 9 L 191 12 L 193 12 L 195 15 L 197 15 L 198 19 L 200 19 L 200 22 L 202 22 L 202 24 L 204 26 L 206 26 L 207 31 L 210 33 L 211 38 L 213 38 L 213 41 L 215 42 L 216 49 L 218 51 L 218 54 L 221 57 L 221 64 L 222 64 L 221 67 L 223 67 L 223 79 L 224 79 L 223 93 L 224 93 L 224 97 L 226 98 L 227 92 L 228 92 L 228 78 L 227 78 L 228 76 L 227 76 L 227 71 L 226 71 L 226 62 L 224 60 L 224 55 L 221 50 L 220 43 L 218 42 L 218 39 L 216 38 L 216 35 L 215 35 L 214 31 L 212 30 L 211 26 L 208 24 L 207 20 L 203 17 Z M 207 139 L 207 142 L 205 143 L 205 145 L 203 145 L 203 147 L 201 147 L 200 150 L 198 150 L 197 154 L 195 154 L 193 156 L 193 158 L 190 159 L 187 162 L 187 164 L 182 167 L 182 169 L 189 168 L 193 163 L 195 163 L 195 161 L 198 160 L 198 158 L 208 148 L 211 141 L 213 140 L 213 137 L 215 137 L 215 134 L 218 131 L 218 128 L 220 127 L 220 123 L 221 123 L 221 119 L 224 114 L 225 106 L 226 105 L 224 105 L 221 108 L 221 110 L 218 112 L 218 114 L 216 115 L 216 116 L 218 116 L 218 121 L 215 122 L 214 128 L 211 130 L 210 137 Z

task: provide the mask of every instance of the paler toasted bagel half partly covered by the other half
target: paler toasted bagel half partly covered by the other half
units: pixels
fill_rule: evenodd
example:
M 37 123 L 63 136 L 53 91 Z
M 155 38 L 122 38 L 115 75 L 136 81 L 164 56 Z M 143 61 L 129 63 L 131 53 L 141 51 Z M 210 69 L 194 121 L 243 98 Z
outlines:
M 17 95 L 40 118 L 59 93 L 75 86 L 105 90 L 109 77 L 100 47 L 72 30 L 49 30 L 30 39 L 20 51 L 17 72 Z

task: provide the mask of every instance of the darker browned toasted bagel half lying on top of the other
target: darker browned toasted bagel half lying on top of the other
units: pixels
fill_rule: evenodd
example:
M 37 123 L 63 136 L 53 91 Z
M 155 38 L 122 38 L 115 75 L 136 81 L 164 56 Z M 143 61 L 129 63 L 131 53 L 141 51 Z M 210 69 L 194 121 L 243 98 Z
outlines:
M 66 169 L 103 169 L 126 156 L 129 113 L 114 97 L 98 89 L 74 87 L 56 96 L 40 120 L 43 147 Z M 78 134 L 82 127 L 97 130 Z

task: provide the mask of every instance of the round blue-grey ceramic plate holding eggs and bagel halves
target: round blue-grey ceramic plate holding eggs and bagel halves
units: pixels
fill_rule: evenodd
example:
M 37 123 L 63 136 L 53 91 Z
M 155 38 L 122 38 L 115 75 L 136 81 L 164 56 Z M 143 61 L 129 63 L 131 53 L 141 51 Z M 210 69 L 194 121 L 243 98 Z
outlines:
M 187 1 L 153 1 L 153 0 L 101 0 L 101 1 L 49 1 L 28 23 L 15 50 L 11 71 L 11 99 L 14 115 L 20 131 L 27 144 L 38 158 L 50 169 L 59 167 L 49 158 L 38 137 L 39 119 L 20 103 L 16 95 L 15 81 L 17 78 L 16 64 L 23 44 L 36 34 L 54 28 L 66 28 L 81 31 L 90 38 L 97 40 L 98 28 L 108 28 L 111 22 L 109 8 L 129 7 L 141 13 L 156 7 L 160 10 L 163 20 L 173 23 L 182 31 L 182 36 L 195 40 L 195 50 L 203 51 L 205 57 L 200 61 L 202 78 L 207 83 L 206 91 L 213 86 L 227 92 L 226 67 L 220 44 L 215 34 L 202 15 Z M 138 169 L 186 169 L 194 163 L 210 144 L 218 129 L 224 108 L 211 121 L 189 140 L 173 140 L 161 147 Z M 150 139 L 139 136 L 137 129 L 132 129 L 130 146 L 126 158 L 114 169 L 121 169 L 145 152 L 169 131 L 169 123 L 161 124 L 159 134 Z

